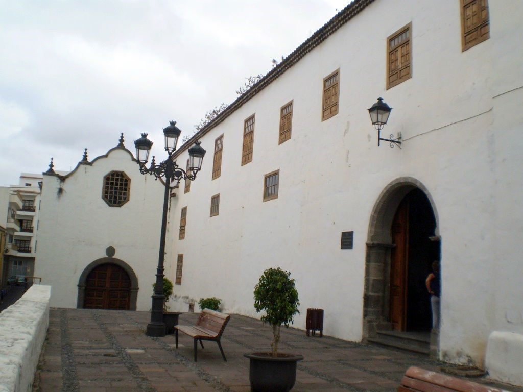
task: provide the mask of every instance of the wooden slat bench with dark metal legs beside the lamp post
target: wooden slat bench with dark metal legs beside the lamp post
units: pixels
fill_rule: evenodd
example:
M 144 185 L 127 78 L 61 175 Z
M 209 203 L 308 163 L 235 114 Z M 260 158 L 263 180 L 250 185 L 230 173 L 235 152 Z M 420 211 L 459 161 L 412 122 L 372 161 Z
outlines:
M 197 361 L 197 349 L 198 341 L 200 341 L 201 348 L 203 348 L 202 340 L 212 340 L 218 343 L 220 352 L 222 353 L 222 358 L 225 362 L 225 354 L 223 353 L 222 345 L 220 339 L 222 338 L 223 330 L 231 318 L 230 315 L 224 313 L 215 312 L 211 309 L 203 309 L 196 321 L 195 326 L 188 325 L 177 325 L 175 326 L 175 340 L 176 348 L 178 348 L 178 331 L 184 332 L 194 339 L 195 347 L 195 362 Z

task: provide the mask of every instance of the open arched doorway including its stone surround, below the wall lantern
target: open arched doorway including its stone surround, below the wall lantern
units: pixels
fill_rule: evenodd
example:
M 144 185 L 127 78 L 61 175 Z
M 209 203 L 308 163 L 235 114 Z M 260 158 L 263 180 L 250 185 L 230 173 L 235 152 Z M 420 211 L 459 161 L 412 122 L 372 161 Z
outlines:
M 429 331 L 425 279 L 439 260 L 438 216 L 430 193 L 411 177 L 392 181 L 372 211 L 366 255 L 364 337 L 379 329 Z

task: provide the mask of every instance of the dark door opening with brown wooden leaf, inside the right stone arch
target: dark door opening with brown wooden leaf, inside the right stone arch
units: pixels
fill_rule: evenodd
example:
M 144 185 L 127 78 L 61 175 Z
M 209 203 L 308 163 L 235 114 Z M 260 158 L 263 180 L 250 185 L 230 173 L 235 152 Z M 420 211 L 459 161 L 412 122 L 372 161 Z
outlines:
M 390 321 L 395 330 L 430 329 L 430 296 L 425 279 L 431 263 L 439 260 L 434 239 L 436 220 L 422 191 L 407 193 L 396 210 L 391 227 Z

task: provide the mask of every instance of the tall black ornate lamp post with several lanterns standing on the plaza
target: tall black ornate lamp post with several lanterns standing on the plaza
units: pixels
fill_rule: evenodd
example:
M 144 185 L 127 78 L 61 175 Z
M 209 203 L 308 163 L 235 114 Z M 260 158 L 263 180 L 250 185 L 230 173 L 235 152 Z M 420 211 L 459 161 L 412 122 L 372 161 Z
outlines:
M 162 213 L 162 231 L 160 234 L 160 252 L 158 253 L 158 267 L 156 270 L 156 284 L 154 293 L 152 295 L 151 307 L 151 321 L 147 324 L 145 335 L 161 337 L 165 336 L 165 324 L 163 322 L 163 307 L 164 307 L 164 257 L 165 257 L 165 231 L 167 228 L 167 210 L 169 205 L 170 183 L 176 182 L 176 185 L 181 179 L 194 180 L 196 174 L 201 169 L 201 163 L 206 151 L 200 146 L 200 142 L 189 148 L 189 169 L 187 172 L 181 169 L 173 158 L 173 153 L 176 150 L 176 143 L 181 131 L 176 127 L 176 121 L 169 121 L 170 125 L 164 128 L 165 136 L 165 151 L 167 151 L 167 159 L 162 163 L 156 165 L 153 159 L 149 168 L 145 166 L 149 160 L 149 152 L 153 142 L 147 139 L 147 134 L 142 133 L 140 139 L 134 141 L 136 147 L 136 160 L 140 165 L 140 172 L 142 174 L 149 174 L 158 178 L 163 178 L 165 182 L 164 205 Z

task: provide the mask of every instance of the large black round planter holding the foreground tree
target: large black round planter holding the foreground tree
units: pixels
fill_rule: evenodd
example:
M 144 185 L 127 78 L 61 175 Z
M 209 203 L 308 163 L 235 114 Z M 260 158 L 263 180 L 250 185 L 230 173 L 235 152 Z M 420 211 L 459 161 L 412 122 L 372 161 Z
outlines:
M 243 354 L 251 362 L 249 380 L 252 392 L 289 392 L 296 382 L 296 363 L 303 355 L 271 353 Z

